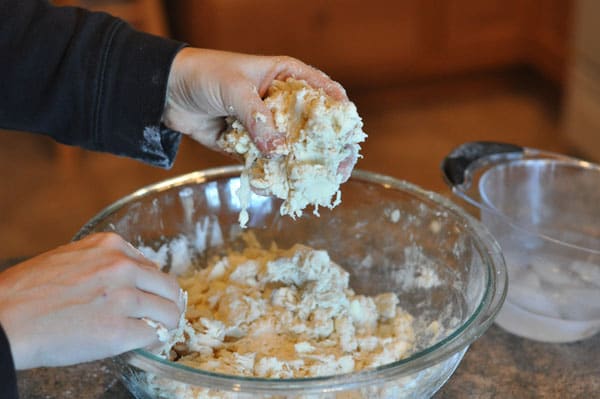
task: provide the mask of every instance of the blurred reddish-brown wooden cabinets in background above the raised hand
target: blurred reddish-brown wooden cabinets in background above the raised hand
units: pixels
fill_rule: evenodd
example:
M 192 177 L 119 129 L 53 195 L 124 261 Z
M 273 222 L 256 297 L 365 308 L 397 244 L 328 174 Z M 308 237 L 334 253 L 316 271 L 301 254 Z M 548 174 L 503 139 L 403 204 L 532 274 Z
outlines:
M 180 0 L 193 45 L 295 56 L 374 86 L 517 63 L 563 78 L 569 0 Z

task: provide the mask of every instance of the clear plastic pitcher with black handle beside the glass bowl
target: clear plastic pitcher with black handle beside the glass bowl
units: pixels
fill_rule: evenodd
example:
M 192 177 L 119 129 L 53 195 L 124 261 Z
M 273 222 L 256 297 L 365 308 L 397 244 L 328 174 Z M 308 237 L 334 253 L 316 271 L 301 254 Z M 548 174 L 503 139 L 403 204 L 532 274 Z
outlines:
M 600 331 L 600 166 L 474 142 L 452 151 L 442 168 L 502 247 L 509 288 L 496 323 L 546 342 Z

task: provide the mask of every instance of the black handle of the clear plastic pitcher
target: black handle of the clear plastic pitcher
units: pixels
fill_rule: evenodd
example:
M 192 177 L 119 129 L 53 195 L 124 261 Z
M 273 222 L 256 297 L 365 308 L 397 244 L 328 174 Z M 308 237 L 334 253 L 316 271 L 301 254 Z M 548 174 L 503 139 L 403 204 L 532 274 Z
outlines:
M 493 141 L 472 141 L 456 147 L 442 162 L 444 179 L 451 186 L 465 182 L 466 171 L 474 162 L 492 155 L 517 153 L 522 154 L 524 148 L 515 144 Z

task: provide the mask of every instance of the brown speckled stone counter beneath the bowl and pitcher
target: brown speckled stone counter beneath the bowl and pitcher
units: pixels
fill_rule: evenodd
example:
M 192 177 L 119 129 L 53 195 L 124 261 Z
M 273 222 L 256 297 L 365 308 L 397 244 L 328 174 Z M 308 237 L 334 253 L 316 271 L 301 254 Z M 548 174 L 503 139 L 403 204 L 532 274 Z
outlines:
M 18 373 L 22 398 L 130 398 L 111 361 Z M 572 344 L 518 338 L 496 326 L 476 341 L 435 399 L 599 398 L 600 335 Z

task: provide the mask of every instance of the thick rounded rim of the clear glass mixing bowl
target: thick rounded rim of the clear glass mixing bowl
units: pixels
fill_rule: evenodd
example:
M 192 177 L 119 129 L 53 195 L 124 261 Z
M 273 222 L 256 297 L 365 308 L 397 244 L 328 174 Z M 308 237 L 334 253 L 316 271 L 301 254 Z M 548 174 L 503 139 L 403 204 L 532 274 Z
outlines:
M 241 165 L 223 166 L 183 174 L 143 187 L 103 209 L 90 219 L 73 239 L 78 240 L 90 234 L 106 217 L 141 197 L 186 184 L 199 184 L 222 178 L 238 177 L 241 171 Z M 409 193 L 420 200 L 434 202 L 436 205 L 445 208 L 453 217 L 464 220 L 464 227 L 475 238 L 475 243 L 479 247 L 479 253 L 484 257 L 484 263 L 487 266 L 487 281 L 482 301 L 478 304 L 471 317 L 452 334 L 435 345 L 417 352 L 408 358 L 374 369 L 301 379 L 269 379 L 213 373 L 162 359 L 143 348 L 121 355 L 123 357 L 121 360 L 125 360 L 157 376 L 172 378 L 200 387 L 211 387 L 212 389 L 224 389 L 234 392 L 310 393 L 333 392 L 396 380 L 439 364 L 452 355 L 466 349 L 492 324 L 506 298 L 508 276 L 506 263 L 499 244 L 483 224 L 440 194 L 426 191 L 403 180 L 365 170 L 354 170 L 351 179 L 377 184 L 386 189 L 399 190 Z

